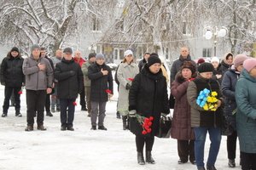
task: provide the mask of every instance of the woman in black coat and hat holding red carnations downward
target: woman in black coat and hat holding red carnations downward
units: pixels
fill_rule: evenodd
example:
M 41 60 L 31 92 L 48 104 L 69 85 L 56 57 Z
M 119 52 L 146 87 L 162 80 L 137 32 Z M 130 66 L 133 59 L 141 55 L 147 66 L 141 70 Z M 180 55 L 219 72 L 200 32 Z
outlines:
M 160 70 L 161 61 L 156 56 L 148 58 L 148 64 L 137 74 L 132 82 L 129 93 L 129 116 L 130 130 L 136 135 L 137 161 L 144 165 L 143 146 L 146 143 L 146 161 L 154 163 L 151 150 L 154 144 L 154 136 L 159 132 L 161 113 L 170 112 L 167 97 L 166 78 Z M 148 128 L 143 127 L 139 122 L 140 118 L 147 117 L 152 120 L 152 125 L 148 133 Z

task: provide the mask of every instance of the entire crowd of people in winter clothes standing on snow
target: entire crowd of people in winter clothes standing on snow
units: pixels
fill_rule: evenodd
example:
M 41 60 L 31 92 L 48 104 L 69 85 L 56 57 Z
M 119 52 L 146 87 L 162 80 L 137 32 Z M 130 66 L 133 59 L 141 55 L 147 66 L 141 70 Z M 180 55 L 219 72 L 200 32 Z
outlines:
M 183 47 L 170 76 L 166 69 L 158 54 L 145 53 L 137 65 L 127 49 L 116 71 L 117 118 L 122 116 L 123 129 L 136 136 L 137 163 L 155 163 L 154 137 L 159 133 L 160 117 L 170 113 L 170 85 L 175 99 L 171 137 L 177 139 L 178 164 L 189 161 L 198 170 L 216 170 L 223 131 L 228 127 L 229 167 L 236 167 L 238 138 L 241 169 L 256 169 L 256 59 L 227 53 L 223 59 L 212 57 L 210 62 L 198 59 L 195 63 L 189 48 Z M 20 92 L 26 88 L 26 131 L 34 129 L 34 117 L 38 130 L 46 130 L 44 107 L 46 116 L 60 111 L 61 131 L 73 131 L 78 96 L 81 110 L 90 116 L 90 129 L 107 130 L 104 119 L 106 104 L 113 96 L 113 76 L 104 54 L 91 53 L 84 60 L 79 51 L 73 55 L 72 48 L 65 48 L 49 58 L 45 48 L 33 45 L 31 55 L 22 59 L 19 48 L 12 48 L 2 61 L 0 76 L 5 86 L 2 117 L 8 115 L 12 94 L 15 116 L 22 116 Z M 211 144 L 205 164 L 207 133 Z

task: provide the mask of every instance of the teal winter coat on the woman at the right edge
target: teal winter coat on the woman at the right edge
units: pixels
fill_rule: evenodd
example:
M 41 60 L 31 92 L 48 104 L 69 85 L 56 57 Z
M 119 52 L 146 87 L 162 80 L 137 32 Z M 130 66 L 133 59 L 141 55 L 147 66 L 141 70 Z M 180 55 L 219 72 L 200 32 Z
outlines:
M 256 153 L 256 78 L 246 70 L 236 82 L 236 129 L 240 150 Z

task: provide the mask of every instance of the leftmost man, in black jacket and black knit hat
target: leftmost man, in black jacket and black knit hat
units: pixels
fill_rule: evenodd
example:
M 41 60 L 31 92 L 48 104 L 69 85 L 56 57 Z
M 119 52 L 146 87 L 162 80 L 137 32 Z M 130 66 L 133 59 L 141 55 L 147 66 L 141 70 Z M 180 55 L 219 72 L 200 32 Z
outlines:
M 19 48 L 12 48 L 1 64 L 1 84 L 4 88 L 3 115 L 7 116 L 9 109 L 9 99 L 14 91 L 15 96 L 15 116 L 20 114 L 20 94 L 21 86 L 25 81 L 22 72 L 23 60 L 20 56 Z

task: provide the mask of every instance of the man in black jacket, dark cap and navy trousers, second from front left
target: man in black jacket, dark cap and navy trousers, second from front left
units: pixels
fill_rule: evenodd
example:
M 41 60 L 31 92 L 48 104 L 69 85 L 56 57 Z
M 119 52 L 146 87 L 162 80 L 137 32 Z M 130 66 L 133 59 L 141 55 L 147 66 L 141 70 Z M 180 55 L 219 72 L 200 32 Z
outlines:
M 63 53 L 64 58 L 55 67 L 55 79 L 58 81 L 57 95 L 61 105 L 61 130 L 73 131 L 76 98 L 84 88 L 83 72 L 80 65 L 74 62 L 71 48 L 65 48 Z

